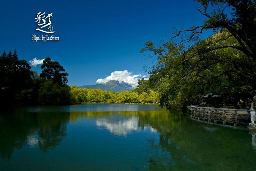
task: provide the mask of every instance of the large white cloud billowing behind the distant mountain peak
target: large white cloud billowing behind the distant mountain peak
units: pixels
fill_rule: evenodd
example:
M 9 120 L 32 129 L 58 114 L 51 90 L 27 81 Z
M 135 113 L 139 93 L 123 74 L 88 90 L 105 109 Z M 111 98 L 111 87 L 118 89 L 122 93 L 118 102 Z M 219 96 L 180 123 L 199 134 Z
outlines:
M 124 81 L 125 83 L 128 83 L 133 87 L 136 87 L 138 85 L 139 78 L 141 78 L 141 74 L 132 75 L 132 72 L 128 72 L 127 70 L 114 71 L 104 79 L 99 78 L 96 81 L 96 83 L 106 83 L 110 80 L 115 80 L 115 81 Z

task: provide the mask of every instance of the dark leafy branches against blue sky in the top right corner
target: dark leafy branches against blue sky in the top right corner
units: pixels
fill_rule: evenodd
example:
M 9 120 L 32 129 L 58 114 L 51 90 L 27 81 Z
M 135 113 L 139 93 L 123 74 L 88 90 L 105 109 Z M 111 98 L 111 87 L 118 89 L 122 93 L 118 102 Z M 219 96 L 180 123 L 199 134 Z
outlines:
M 226 44 L 215 48 L 234 48 L 242 51 L 245 55 L 256 60 L 256 4 L 254 0 L 196 0 L 201 4 L 198 11 L 208 19 L 204 21 L 203 26 L 197 26 L 193 29 L 201 28 L 201 32 L 205 29 L 223 30 L 227 29 L 230 36 L 239 42 L 238 45 Z M 209 13 L 207 9 L 214 9 Z M 225 9 L 231 10 L 231 15 L 228 17 Z M 200 33 L 201 33 L 200 32 Z M 190 35 L 190 37 L 193 36 Z M 210 50 L 210 49 L 209 49 Z

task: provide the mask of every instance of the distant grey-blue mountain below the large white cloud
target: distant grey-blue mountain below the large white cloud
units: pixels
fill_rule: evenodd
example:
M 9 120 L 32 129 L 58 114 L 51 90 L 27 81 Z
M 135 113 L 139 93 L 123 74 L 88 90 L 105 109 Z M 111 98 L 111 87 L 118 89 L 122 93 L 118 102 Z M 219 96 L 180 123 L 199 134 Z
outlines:
M 110 80 L 105 84 L 96 84 L 96 85 L 83 85 L 79 86 L 78 88 L 86 88 L 86 89 L 101 89 L 101 90 L 113 90 L 114 92 L 123 92 L 125 90 L 130 91 L 133 90 L 134 87 L 132 85 L 125 83 L 124 81 L 115 81 Z

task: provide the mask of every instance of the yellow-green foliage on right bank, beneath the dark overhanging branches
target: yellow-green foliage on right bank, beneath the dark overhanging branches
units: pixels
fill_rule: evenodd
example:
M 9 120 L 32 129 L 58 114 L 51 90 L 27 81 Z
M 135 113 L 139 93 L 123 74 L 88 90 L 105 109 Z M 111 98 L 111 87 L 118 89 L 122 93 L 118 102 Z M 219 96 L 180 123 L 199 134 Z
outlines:
M 226 41 L 212 43 L 225 33 L 227 32 L 217 33 L 190 49 L 201 50 L 217 46 L 216 44 L 225 44 L 227 41 L 235 42 L 234 38 L 230 37 Z M 226 48 L 190 58 L 196 53 L 179 55 L 180 51 L 175 44 L 168 48 L 165 49 L 167 55 L 158 56 L 149 77 L 149 82 L 154 83 L 153 87 L 158 89 L 161 106 L 186 108 L 195 102 L 199 103 L 203 100 L 202 97 L 210 92 L 218 92 L 219 96 L 225 97 L 226 102 L 231 104 L 236 104 L 236 100 L 241 98 L 246 101 L 245 99 L 252 96 L 256 78 L 253 68 L 256 63 L 244 53 Z M 185 61 L 186 59 L 189 60 Z M 230 100 L 231 97 L 233 100 Z

